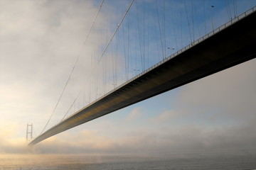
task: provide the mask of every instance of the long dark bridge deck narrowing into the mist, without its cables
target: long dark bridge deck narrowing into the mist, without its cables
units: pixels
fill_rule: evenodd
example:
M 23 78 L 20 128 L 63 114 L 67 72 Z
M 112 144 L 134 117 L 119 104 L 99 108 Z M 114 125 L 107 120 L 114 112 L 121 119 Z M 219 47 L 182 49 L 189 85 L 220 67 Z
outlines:
M 28 145 L 256 57 L 256 7 L 146 69 Z M 238 75 L 239 76 L 239 75 Z M 156 103 L 157 104 L 157 103 Z

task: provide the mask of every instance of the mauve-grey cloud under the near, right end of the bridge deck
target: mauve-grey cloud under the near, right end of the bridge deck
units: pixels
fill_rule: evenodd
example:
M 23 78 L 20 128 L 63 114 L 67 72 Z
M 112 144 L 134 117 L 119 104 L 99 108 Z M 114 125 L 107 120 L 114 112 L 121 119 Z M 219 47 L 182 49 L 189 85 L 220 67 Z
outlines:
M 175 107 L 188 114 L 212 112 L 212 120 L 230 118 L 243 123 L 255 120 L 256 79 L 252 76 L 255 63 L 256 60 L 250 60 L 183 86 Z

